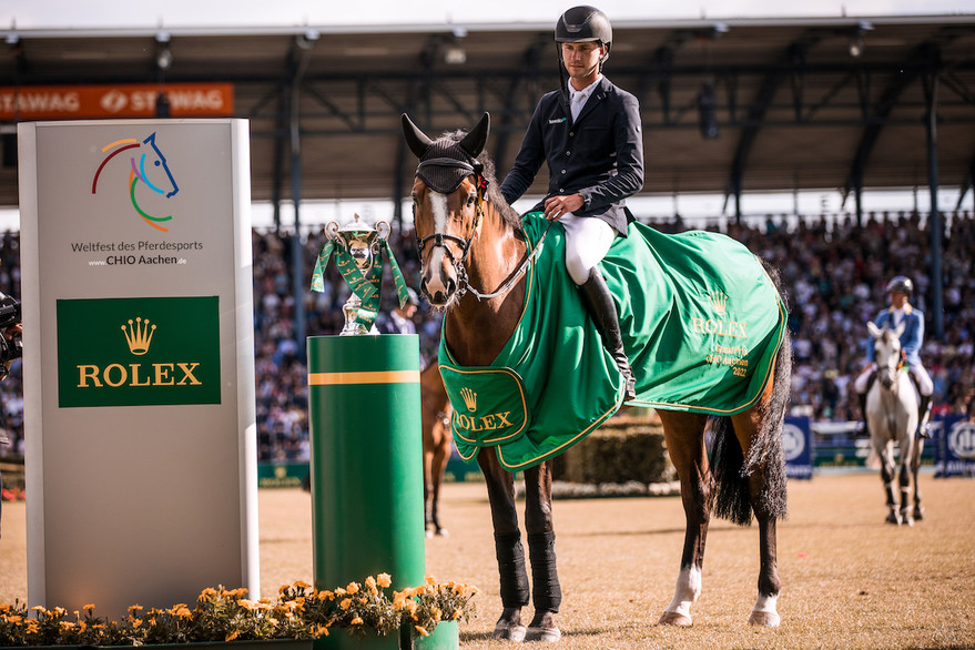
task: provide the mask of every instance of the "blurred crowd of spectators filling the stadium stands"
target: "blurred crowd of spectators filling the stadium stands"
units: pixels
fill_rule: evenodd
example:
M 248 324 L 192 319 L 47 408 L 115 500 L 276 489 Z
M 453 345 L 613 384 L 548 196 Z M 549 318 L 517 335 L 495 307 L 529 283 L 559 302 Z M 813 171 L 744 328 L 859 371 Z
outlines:
M 650 225 L 664 232 L 683 230 L 679 220 Z M 925 314 L 922 358 L 935 384 L 934 412 L 975 417 L 975 216 L 967 211 L 946 213 L 945 225 L 941 341 L 934 332 L 927 271 L 930 236 L 917 214 L 872 214 L 862 226 L 849 215 L 769 217 L 764 223 L 728 225 L 728 235 L 780 270 L 795 354 L 793 413 L 821 422 L 860 417 L 853 379 L 865 363 L 865 323 L 885 306 L 887 281 L 906 275 L 917 287 L 912 303 Z M 255 389 L 262 461 L 308 458 L 307 368 L 304 349 L 295 342 L 292 236 L 253 233 Z M 303 286 L 311 283 L 312 267 L 324 243 L 324 231 L 303 237 Z M 413 233 L 394 233 L 390 244 L 407 282 L 416 287 L 419 261 Z M 0 291 L 12 296 L 20 296 L 19 257 L 19 235 L 8 232 L 0 250 Z M 394 303 L 388 266 L 383 290 L 383 307 L 388 309 Z M 301 296 L 306 335 L 337 334 L 347 297 L 348 287 L 331 264 L 325 291 L 305 291 Z M 424 304 L 415 319 L 422 355 L 431 359 L 439 344 L 439 314 Z M 0 384 L 2 426 L 12 441 L 0 455 L 23 453 L 20 377 L 18 363 L 10 378 Z

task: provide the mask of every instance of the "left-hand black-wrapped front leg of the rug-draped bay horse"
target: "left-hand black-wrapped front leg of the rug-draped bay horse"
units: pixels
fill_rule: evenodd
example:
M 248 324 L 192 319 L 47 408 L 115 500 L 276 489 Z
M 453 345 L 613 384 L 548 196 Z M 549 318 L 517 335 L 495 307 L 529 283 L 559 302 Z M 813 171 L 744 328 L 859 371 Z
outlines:
M 495 553 L 498 559 L 501 606 L 504 610 L 495 623 L 491 639 L 524 641 L 521 608 L 528 605 L 528 573 L 525 569 L 525 548 L 518 529 L 515 507 L 515 478 L 498 463 L 496 451 L 485 447 L 477 455 L 477 464 L 487 484 L 495 530 Z

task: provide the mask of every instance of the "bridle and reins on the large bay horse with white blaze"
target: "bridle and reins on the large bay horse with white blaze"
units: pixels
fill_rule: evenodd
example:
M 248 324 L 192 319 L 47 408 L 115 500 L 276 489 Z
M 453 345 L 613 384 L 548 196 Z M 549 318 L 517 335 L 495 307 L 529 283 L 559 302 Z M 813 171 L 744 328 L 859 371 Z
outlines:
M 470 284 L 470 280 L 467 275 L 467 255 L 470 253 L 470 244 L 474 238 L 477 236 L 477 233 L 480 231 L 480 224 L 484 221 L 484 201 L 485 195 L 487 194 L 488 182 L 484 176 L 484 165 L 475 160 L 473 163 L 467 161 L 453 159 L 453 158 L 431 158 L 425 161 L 420 161 L 419 165 L 416 167 L 416 175 L 419 175 L 419 171 L 424 166 L 449 166 L 449 167 L 458 167 L 464 171 L 470 172 L 470 175 L 474 176 L 475 185 L 477 186 L 477 200 L 475 204 L 475 222 L 474 228 L 470 233 L 470 236 L 467 238 L 458 237 L 457 235 L 450 235 L 447 233 L 431 233 L 423 238 L 418 235 L 416 237 L 416 250 L 417 254 L 423 261 L 424 257 L 424 248 L 430 242 L 433 242 L 433 247 L 441 247 L 447 254 L 447 257 L 450 260 L 450 263 L 454 265 L 454 268 L 457 271 L 457 297 L 461 298 L 467 292 L 470 292 L 478 301 L 484 301 L 488 298 L 494 298 L 500 295 L 508 293 L 515 283 L 525 275 L 525 272 L 528 270 L 528 265 L 531 261 L 537 256 L 539 248 L 541 247 L 541 243 L 545 241 L 545 235 L 548 234 L 548 228 L 551 227 L 552 222 L 549 222 L 546 226 L 545 231 L 541 233 L 541 236 L 538 238 L 538 242 L 535 244 L 535 247 L 528 252 L 526 251 L 524 258 L 521 260 L 518 267 L 511 272 L 511 274 L 502 282 L 495 291 L 490 293 L 481 293 L 474 285 Z M 431 187 L 433 189 L 433 187 Z M 435 192 L 437 190 L 433 189 Z M 454 251 L 450 246 L 447 245 L 447 242 L 453 242 L 457 246 L 460 247 L 460 258 L 454 254 Z

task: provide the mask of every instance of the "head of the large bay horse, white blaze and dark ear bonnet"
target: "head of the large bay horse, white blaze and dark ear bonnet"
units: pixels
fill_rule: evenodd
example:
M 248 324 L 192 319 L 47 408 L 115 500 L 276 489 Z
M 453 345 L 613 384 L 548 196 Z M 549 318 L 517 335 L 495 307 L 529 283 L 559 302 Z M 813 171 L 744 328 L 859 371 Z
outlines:
M 465 263 L 484 219 L 486 181 L 477 158 L 489 128 L 490 116 L 485 113 L 469 133 L 448 133 L 435 141 L 403 115 L 406 143 L 419 159 L 413 223 L 423 264 L 420 291 L 434 307 L 449 307 L 467 283 Z

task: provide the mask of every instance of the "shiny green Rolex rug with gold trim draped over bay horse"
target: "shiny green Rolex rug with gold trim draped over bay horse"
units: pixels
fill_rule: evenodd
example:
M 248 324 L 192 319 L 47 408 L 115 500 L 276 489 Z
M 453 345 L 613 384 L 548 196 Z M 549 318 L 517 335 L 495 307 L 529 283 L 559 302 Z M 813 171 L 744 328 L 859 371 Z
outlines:
M 541 213 L 525 215 L 529 245 L 547 224 Z M 639 223 L 629 233 L 600 264 L 637 377 L 627 404 L 707 415 L 753 406 L 785 328 L 761 263 L 717 233 L 667 235 Z M 445 336 L 439 351 L 460 456 L 492 446 L 511 471 L 565 451 L 622 405 L 622 377 L 566 271 L 558 222 L 527 282 L 521 319 L 490 366 L 458 366 Z

